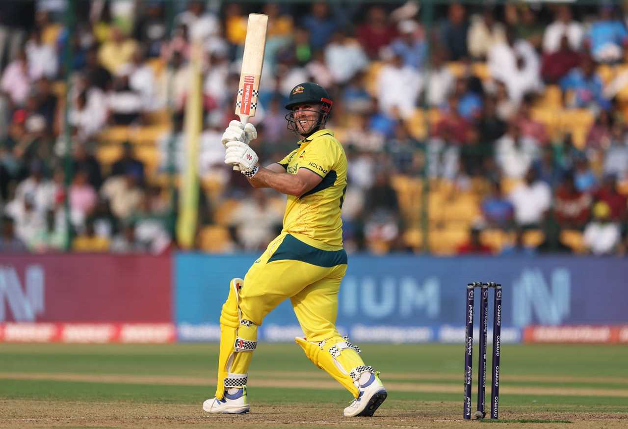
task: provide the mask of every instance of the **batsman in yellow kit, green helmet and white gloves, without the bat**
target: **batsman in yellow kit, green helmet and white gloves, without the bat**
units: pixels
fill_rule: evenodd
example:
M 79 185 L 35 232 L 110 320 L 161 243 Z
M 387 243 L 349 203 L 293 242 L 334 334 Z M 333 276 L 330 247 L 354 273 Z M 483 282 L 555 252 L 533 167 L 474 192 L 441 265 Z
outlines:
M 340 210 L 347 189 L 347 157 L 325 128 L 333 102 L 327 91 L 305 82 L 291 90 L 288 129 L 298 147 L 278 163 L 258 165 L 249 147 L 257 131 L 231 121 L 222 136 L 225 163 L 239 166 L 254 188 L 288 195 L 283 230 L 252 264 L 244 280 L 234 278 L 220 315 L 216 396 L 208 413 L 247 413 L 247 372 L 257 347 L 257 327 L 290 298 L 305 337 L 296 343 L 316 366 L 342 384 L 354 400 L 345 416 L 372 416 L 387 397 L 379 372 L 360 358 L 360 349 L 335 327 L 340 281 L 347 271 Z

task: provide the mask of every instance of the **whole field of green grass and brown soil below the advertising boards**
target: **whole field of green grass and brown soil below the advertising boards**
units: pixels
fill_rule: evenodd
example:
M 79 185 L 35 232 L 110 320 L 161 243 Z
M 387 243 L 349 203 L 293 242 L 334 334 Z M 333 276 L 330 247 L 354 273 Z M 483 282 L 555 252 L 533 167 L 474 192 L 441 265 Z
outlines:
M 376 417 L 355 420 L 340 416 L 349 393 L 296 344 L 259 344 L 246 416 L 200 408 L 214 396 L 217 344 L 0 344 L 0 427 L 482 424 L 462 421 L 462 344 L 360 346 L 365 362 L 382 372 L 389 399 Z M 477 362 L 477 347 L 474 354 Z M 628 427 L 627 362 L 622 345 L 503 345 L 503 425 Z M 490 376 L 490 347 L 487 368 Z M 477 363 L 474 393 L 475 383 Z M 489 398 L 490 384 L 487 411 Z

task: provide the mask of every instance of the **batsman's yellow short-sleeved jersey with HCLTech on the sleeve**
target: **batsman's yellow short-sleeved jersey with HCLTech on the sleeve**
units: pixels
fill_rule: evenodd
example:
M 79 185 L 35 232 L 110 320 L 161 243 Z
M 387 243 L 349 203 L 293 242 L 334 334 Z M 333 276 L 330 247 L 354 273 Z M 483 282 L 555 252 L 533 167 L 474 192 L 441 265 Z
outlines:
M 298 144 L 279 164 L 290 174 L 307 168 L 323 180 L 300 197 L 288 195 L 283 232 L 322 250 L 341 249 L 340 209 L 347 190 L 345 151 L 328 129 L 321 129 Z

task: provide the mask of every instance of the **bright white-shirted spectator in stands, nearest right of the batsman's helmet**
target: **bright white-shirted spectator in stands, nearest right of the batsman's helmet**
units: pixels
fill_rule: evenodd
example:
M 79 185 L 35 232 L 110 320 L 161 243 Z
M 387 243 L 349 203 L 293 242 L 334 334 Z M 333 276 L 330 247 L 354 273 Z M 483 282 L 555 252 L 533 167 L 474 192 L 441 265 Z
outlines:
M 421 87 L 420 73 L 414 67 L 404 66 L 400 55 L 392 54 L 382 67 L 377 82 L 377 102 L 381 111 L 393 117 L 398 112 L 403 117 L 411 116 Z

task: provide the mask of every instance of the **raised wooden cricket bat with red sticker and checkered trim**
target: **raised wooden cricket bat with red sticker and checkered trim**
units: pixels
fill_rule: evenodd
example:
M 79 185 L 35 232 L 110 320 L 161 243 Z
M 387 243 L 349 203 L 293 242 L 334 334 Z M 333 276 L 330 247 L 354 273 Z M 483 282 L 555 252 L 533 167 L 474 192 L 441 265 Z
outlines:
M 249 23 L 246 27 L 244 40 L 244 56 L 242 57 L 242 71 L 236 97 L 236 115 L 240 122 L 249 122 L 249 117 L 255 116 L 257 111 L 257 95 L 259 95 L 259 79 L 262 76 L 264 63 L 264 48 L 266 48 L 266 29 L 268 15 L 261 13 L 249 14 Z M 239 166 L 234 165 L 239 171 Z

